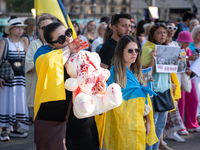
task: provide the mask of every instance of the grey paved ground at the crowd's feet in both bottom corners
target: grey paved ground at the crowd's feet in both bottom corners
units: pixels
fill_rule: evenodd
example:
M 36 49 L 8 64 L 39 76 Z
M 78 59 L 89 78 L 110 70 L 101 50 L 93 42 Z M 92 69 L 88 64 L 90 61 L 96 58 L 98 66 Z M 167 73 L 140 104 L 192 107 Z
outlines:
M 0 141 L 0 150 L 35 150 L 33 142 L 34 125 L 30 125 L 27 138 L 11 138 L 8 142 Z M 188 136 L 182 136 L 186 141 L 178 143 L 164 139 L 167 145 L 174 150 L 200 150 L 200 133 L 190 133 Z

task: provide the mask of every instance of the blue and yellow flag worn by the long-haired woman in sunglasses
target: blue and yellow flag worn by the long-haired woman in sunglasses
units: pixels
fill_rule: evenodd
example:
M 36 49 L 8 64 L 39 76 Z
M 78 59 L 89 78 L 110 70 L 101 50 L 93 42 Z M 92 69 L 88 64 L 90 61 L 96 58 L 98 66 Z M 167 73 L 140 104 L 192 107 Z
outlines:
M 115 82 L 114 67 L 110 70 L 107 83 Z M 148 87 L 141 86 L 134 73 L 126 71 L 127 84 L 121 88 L 122 104 L 106 112 L 104 147 L 110 150 L 145 150 L 146 143 L 158 142 L 153 122 L 153 107 L 147 93 L 155 94 Z M 145 104 L 152 108 L 149 112 L 151 132 L 146 136 L 143 113 Z

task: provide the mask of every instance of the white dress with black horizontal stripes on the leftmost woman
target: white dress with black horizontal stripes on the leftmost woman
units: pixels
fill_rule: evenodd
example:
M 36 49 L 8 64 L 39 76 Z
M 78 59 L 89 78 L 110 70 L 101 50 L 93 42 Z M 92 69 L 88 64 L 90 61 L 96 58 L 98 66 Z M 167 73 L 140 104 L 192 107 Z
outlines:
M 21 42 L 14 44 L 8 38 L 7 40 L 7 58 L 12 65 L 15 76 L 13 80 L 6 81 L 4 89 L 0 88 L 0 128 L 7 127 L 13 131 L 12 126 L 17 121 L 19 128 L 28 130 L 29 117 L 28 108 L 26 107 L 25 77 L 23 64 L 19 66 L 18 63 L 24 61 L 24 46 Z M 19 51 L 17 51 L 17 47 Z

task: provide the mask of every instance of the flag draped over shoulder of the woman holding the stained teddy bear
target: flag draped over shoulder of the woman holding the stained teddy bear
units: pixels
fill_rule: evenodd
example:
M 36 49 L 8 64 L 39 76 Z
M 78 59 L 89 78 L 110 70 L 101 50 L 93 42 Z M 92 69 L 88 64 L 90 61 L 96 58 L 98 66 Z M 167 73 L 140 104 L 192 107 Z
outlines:
M 66 99 L 62 49 L 41 46 L 35 53 L 34 65 L 38 77 L 34 100 L 35 119 L 42 103 Z

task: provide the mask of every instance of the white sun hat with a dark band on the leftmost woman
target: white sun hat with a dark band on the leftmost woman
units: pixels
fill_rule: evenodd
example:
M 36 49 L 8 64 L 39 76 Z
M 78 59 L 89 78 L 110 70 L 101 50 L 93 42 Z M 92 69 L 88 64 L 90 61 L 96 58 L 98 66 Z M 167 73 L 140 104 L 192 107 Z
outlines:
M 27 25 L 23 24 L 19 18 L 11 18 L 8 22 L 9 26 L 5 27 L 5 33 L 10 34 L 10 28 L 20 26 L 25 28 Z

